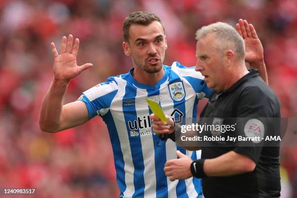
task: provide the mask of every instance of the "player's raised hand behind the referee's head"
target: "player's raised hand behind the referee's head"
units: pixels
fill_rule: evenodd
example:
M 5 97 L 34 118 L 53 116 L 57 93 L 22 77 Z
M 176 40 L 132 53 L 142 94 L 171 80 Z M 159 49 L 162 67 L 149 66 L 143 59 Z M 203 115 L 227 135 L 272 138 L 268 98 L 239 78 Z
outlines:
M 236 31 L 243 37 L 246 45 L 246 62 L 250 65 L 264 61 L 264 50 L 252 24 L 247 20 L 239 19 L 235 26 Z

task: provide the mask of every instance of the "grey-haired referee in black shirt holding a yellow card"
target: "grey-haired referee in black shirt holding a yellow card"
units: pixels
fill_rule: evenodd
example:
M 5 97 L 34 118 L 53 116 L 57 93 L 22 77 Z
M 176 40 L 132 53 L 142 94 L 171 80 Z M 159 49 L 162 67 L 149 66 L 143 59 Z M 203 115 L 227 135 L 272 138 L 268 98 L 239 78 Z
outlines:
M 247 32 L 241 33 L 257 36 L 253 31 L 253 27 L 249 27 Z M 210 122 L 208 118 L 212 118 L 211 124 L 225 124 L 235 117 L 233 121 L 237 123 L 234 132 L 204 131 L 202 134 L 217 136 L 220 133 L 228 138 L 228 135 L 250 137 L 253 134 L 264 137 L 273 130 L 278 132 L 280 125 L 275 122 L 279 122 L 281 116 L 279 100 L 257 70 L 247 70 L 241 36 L 230 25 L 218 22 L 199 29 L 196 39 L 196 70 L 205 77 L 207 86 L 214 89 L 201 119 Z M 166 131 L 164 123 L 153 115 L 151 118 L 154 132 L 169 132 L 172 139 L 180 137 L 180 125 Z M 169 124 L 174 125 L 171 118 Z M 196 131 L 182 134 L 193 132 Z M 180 141 L 179 138 L 177 143 Z M 205 198 L 279 198 L 279 144 L 266 147 L 263 142 L 254 140 L 249 145 L 242 145 L 213 141 L 208 143 L 211 146 L 202 145 L 201 159 L 196 161 L 178 152 L 179 159 L 166 162 L 165 174 L 171 181 L 192 176 L 202 178 Z

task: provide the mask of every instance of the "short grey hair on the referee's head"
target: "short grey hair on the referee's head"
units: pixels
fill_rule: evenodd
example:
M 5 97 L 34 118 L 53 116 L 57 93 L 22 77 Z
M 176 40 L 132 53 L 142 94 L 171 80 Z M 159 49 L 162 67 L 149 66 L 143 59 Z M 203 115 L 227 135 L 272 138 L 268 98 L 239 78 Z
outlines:
M 229 24 L 216 22 L 207 26 L 203 26 L 196 32 L 196 40 L 204 36 L 214 33 L 215 39 L 220 46 L 219 49 L 231 49 L 239 60 L 245 58 L 245 42 L 237 31 Z

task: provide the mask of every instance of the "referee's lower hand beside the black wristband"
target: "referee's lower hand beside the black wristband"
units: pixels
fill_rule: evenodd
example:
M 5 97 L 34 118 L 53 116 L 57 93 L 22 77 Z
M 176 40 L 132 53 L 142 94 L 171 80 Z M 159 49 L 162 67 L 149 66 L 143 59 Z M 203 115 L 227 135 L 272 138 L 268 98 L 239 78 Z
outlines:
M 169 177 L 170 181 L 193 177 L 190 168 L 193 161 L 188 156 L 182 154 L 179 150 L 176 152 L 176 154 L 178 159 L 169 160 L 166 162 L 164 167 L 165 175 Z

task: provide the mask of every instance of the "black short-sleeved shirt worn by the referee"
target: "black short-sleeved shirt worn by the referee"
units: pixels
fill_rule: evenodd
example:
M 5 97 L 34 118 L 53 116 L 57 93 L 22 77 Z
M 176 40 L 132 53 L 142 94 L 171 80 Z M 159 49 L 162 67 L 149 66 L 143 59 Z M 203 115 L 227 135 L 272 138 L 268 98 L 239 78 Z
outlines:
M 261 118 L 281 117 L 280 102 L 259 77 L 258 70 L 252 69 L 227 91 L 214 91 L 201 117 L 222 120 L 230 117 L 245 117 L 247 120 L 258 117 L 264 123 L 265 130 L 271 131 L 269 129 L 271 124 L 265 123 L 266 121 Z M 243 128 L 237 126 L 236 130 L 243 131 Z M 220 144 L 217 142 L 210 147 L 202 147 L 201 158 L 211 159 L 233 150 L 254 160 L 256 168 L 252 172 L 229 177 L 203 178 L 202 188 L 205 198 L 279 198 L 281 196 L 279 146 L 245 147 Z

